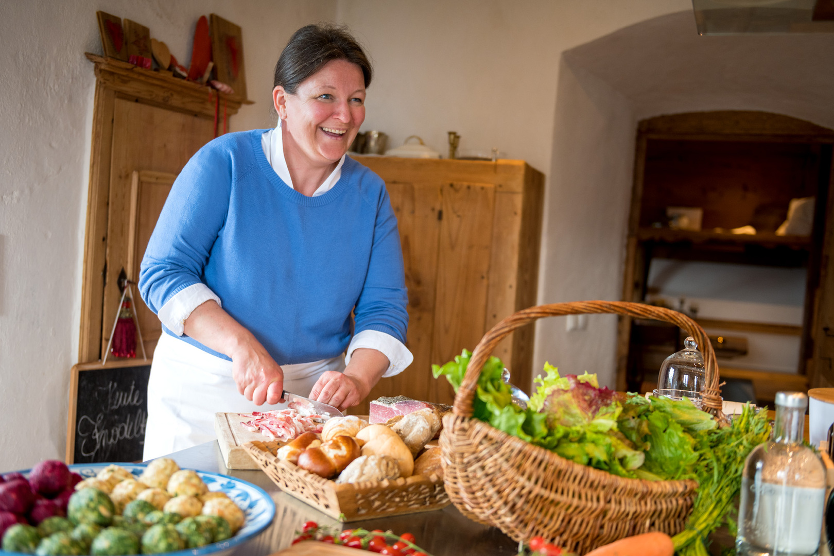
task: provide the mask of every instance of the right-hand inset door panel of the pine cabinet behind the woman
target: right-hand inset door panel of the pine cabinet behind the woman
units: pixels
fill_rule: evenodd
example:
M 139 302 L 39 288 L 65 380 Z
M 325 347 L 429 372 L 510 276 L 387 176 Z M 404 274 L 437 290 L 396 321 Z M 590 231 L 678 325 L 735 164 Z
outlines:
M 491 183 L 448 183 L 442 193 L 434 363 L 449 361 L 463 348 L 474 349 L 484 335 L 495 207 Z M 447 381 L 435 380 L 430 400 L 452 403 L 455 392 Z

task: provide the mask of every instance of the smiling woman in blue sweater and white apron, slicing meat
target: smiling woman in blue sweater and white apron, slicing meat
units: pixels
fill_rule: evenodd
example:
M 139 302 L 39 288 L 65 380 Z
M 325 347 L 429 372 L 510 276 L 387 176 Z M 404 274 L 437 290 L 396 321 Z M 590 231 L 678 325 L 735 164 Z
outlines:
M 344 29 L 299 29 L 275 67 L 278 126 L 215 139 L 173 184 L 139 277 L 163 323 L 144 459 L 283 390 L 356 405 L 411 363 L 396 218 L 345 155 L 371 75 Z

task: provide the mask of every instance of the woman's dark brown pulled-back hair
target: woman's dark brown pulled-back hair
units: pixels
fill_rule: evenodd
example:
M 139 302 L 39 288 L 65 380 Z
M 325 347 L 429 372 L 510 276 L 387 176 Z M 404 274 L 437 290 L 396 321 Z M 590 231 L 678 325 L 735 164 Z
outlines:
M 362 70 L 365 87 L 374 73 L 368 57 L 346 27 L 307 25 L 293 33 L 275 64 L 273 88 L 295 94 L 299 84 L 331 60 L 347 60 Z

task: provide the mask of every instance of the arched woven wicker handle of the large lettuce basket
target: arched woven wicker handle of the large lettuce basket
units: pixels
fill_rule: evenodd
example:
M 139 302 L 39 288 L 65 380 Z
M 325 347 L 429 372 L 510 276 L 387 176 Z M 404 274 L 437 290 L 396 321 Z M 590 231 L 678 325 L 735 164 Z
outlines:
M 492 350 L 515 328 L 543 317 L 558 317 L 569 314 L 585 313 L 614 313 L 636 318 L 653 318 L 676 324 L 686 330 L 687 333 L 698 343 L 701 353 L 704 355 L 706 386 L 703 393 L 705 411 L 715 416 L 719 422 L 726 422 L 724 413 L 721 412 L 721 387 L 718 380 L 718 363 L 716 352 L 712 349 L 710 338 L 701 326 L 683 313 L 671 309 L 646 305 L 646 303 L 631 303 L 627 301 L 573 301 L 570 303 L 550 303 L 522 309 L 511 314 L 500 323 L 485 333 L 484 337 L 475 346 L 469 365 L 466 367 L 466 374 L 463 383 L 460 384 L 458 393 L 455 395 L 455 415 L 469 418 L 472 416 L 472 401 L 475 398 L 475 388 L 478 385 L 480 369 L 490 357 Z

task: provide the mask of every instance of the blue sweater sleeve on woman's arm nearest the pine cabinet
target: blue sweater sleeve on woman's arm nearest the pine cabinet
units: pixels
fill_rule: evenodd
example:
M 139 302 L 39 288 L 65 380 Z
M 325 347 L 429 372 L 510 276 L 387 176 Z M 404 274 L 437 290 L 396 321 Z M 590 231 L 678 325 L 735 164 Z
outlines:
M 355 333 L 377 330 L 405 343 L 409 314 L 408 293 L 405 289 L 403 253 L 399 246 L 397 218 L 382 179 L 364 168 L 368 178 L 379 180 L 379 198 L 374 224 L 374 247 L 371 250 L 364 288 L 354 308 Z

